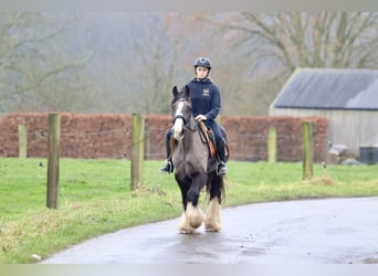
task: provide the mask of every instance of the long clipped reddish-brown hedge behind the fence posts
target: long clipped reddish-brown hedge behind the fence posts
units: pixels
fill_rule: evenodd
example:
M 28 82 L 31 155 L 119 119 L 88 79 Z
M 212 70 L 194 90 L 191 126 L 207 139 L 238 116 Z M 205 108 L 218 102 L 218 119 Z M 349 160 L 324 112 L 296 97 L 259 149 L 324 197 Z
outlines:
M 165 137 L 171 126 L 169 115 L 146 115 L 145 156 L 166 157 Z M 277 132 L 277 160 L 302 160 L 302 123 L 313 121 L 314 159 L 322 161 L 327 149 L 328 123 L 324 118 L 222 116 L 228 132 L 230 159 L 266 160 L 267 132 Z M 48 157 L 48 114 L 10 114 L 0 118 L 0 156 L 18 156 L 18 125 L 28 129 L 28 156 Z M 132 150 L 132 115 L 62 114 L 61 156 L 66 158 L 124 158 Z

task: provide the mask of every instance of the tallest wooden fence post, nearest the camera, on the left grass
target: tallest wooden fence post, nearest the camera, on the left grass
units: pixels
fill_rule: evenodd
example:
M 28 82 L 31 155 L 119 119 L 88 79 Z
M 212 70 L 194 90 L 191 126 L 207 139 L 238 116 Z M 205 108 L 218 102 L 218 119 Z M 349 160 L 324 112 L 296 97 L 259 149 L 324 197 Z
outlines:
M 61 115 L 49 114 L 48 208 L 59 206 Z

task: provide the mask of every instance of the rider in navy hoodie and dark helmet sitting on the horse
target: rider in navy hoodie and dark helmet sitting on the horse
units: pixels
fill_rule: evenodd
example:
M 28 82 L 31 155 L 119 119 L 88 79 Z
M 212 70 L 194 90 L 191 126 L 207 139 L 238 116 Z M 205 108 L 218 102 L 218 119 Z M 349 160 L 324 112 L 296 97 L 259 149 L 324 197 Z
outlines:
M 216 121 L 216 118 L 221 108 L 221 97 L 217 85 L 209 77 L 211 71 L 211 62 L 208 57 L 198 57 L 195 61 L 196 77 L 187 85 L 190 88 L 190 100 L 192 106 L 192 115 L 197 121 L 203 121 L 212 129 L 216 137 L 218 156 L 220 161 L 217 166 L 218 174 L 225 174 L 225 156 L 224 156 L 224 140 L 221 129 Z M 167 164 L 160 168 L 160 172 L 170 173 L 174 171 L 174 164 L 170 159 L 170 137 L 171 130 L 167 132 Z

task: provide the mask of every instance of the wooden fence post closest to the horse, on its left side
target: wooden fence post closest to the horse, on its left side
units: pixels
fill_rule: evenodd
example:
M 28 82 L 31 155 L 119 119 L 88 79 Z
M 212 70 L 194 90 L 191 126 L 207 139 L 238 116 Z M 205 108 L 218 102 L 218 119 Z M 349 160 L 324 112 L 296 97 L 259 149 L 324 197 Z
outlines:
M 141 168 L 144 157 L 144 118 L 140 114 L 133 114 L 132 134 L 132 176 L 130 188 L 135 190 L 141 185 Z

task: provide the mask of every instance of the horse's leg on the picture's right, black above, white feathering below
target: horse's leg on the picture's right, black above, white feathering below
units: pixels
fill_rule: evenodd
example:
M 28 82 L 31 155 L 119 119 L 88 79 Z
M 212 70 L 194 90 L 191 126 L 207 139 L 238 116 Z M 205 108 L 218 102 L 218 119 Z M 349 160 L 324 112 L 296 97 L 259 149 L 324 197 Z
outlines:
M 209 232 L 219 232 L 221 230 L 222 178 L 217 176 L 212 178 L 210 183 L 210 202 L 204 219 L 204 229 Z

